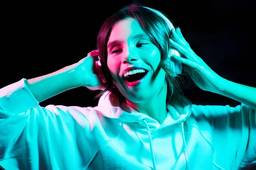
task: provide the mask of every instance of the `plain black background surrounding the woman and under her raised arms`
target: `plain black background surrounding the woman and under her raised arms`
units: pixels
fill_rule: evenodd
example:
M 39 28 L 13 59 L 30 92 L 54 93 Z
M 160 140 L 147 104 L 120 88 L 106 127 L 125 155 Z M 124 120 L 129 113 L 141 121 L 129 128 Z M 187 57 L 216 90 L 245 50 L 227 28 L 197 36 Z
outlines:
M 96 48 L 103 21 L 129 3 L 163 11 L 180 27 L 192 49 L 221 77 L 256 87 L 253 1 L 124 0 L 90 3 L 12 3 L 3 6 L 0 88 L 22 78 L 49 74 L 78 62 Z M 41 106 L 95 106 L 99 91 L 79 87 L 41 102 Z M 206 92 L 187 78 L 184 94 L 198 105 L 240 103 Z

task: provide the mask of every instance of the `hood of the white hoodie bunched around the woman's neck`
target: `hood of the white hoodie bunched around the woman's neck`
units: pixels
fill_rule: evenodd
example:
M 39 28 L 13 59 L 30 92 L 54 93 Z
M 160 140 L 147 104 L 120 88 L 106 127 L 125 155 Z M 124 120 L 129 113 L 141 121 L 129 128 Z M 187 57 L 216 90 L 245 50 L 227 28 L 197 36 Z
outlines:
M 191 102 L 186 97 L 183 97 L 181 103 L 167 103 L 167 115 L 163 123 L 160 125 L 155 119 L 148 115 L 139 113 L 125 102 L 119 102 L 119 96 L 107 91 L 100 99 L 96 110 L 100 111 L 102 116 L 120 119 L 123 122 L 138 122 L 145 127 L 144 120 L 150 128 L 160 129 L 168 125 L 175 125 L 184 122 L 191 114 Z

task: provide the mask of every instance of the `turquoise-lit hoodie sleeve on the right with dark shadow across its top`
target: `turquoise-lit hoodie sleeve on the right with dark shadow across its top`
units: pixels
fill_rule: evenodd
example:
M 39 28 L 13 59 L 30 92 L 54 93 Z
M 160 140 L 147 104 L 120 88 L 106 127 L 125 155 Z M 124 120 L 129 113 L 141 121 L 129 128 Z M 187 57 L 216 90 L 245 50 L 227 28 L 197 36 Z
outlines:
M 199 110 L 198 110 L 199 109 Z M 199 106 L 212 129 L 214 164 L 242 169 L 256 164 L 256 111 L 243 103 L 236 107 Z

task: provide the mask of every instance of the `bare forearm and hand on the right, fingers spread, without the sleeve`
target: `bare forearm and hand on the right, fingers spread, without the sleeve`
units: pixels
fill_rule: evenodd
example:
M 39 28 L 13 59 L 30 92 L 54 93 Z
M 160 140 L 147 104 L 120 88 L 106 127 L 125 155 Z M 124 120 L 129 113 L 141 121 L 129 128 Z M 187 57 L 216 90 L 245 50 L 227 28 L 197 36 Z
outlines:
M 256 88 L 231 82 L 220 77 L 190 48 L 182 36 L 180 29 L 172 29 L 174 40 L 171 45 L 183 53 L 186 58 L 173 55 L 176 60 L 183 63 L 184 70 L 189 74 L 195 84 L 204 91 L 221 94 L 237 100 L 249 107 L 256 109 Z

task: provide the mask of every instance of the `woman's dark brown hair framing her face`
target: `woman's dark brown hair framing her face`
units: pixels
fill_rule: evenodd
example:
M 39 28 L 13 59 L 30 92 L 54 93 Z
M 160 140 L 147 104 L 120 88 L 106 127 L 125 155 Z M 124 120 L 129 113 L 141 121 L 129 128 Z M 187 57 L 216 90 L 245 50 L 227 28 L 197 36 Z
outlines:
M 99 94 L 97 94 L 94 99 L 98 99 L 106 91 L 110 91 L 113 94 L 118 95 L 121 101 L 125 101 L 125 97 L 122 96 L 119 90 L 114 87 L 112 77 L 107 66 L 107 43 L 113 26 L 120 20 L 124 20 L 127 17 L 132 17 L 139 22 L 143 31 L 151 38 L 151 41 L 154 43 L 154 45 L 157 46 L 157 48 L 161 52 L 160 67 L 163 68 L 164 71 L 166 71 L 165 81 L 167 81 L 168 88 L 166 102 L 170 102 L 171 99 L 179 102 L 181 97 L 183 96 L 181 85 L 185 82 L 185 77 L 183 77 L 184 74 L 179 74 L 177 77 L 172 77 L 169 75 L 171 70 L 165 67 L 168 48 L 170 46 L 169 38 L 171 35 L 171 31 L 166 21 L 162 17 L 155 14 L 153 11 L 150 11 L 143 6 L 139 6 L 136 4 L 130 4 L 128 6 L 125 6 L 112 16 L 108 17 L 99 30 L 99 34 L 97 37 L 97 48 L 99 49 L 99 56 L 102 62 L 102 71 L 104 72 L 104 76 L 109 86 L 104 91 L 101 91 Z

